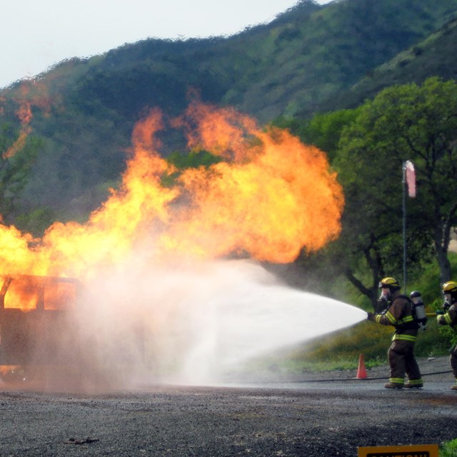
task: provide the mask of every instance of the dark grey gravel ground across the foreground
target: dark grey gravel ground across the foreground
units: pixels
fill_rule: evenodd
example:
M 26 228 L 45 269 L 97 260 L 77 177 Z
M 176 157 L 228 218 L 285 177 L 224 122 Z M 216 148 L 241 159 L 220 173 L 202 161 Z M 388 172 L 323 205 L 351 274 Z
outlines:
M 448 358 L 419 363 L 425 386 L 414 391 L 383 388 L 386 366 L 367 379 L 279 373 L 243 385 L 91 393 L 0 384 L 0 456 L 354 457 L 358 446 L 457 438 Z

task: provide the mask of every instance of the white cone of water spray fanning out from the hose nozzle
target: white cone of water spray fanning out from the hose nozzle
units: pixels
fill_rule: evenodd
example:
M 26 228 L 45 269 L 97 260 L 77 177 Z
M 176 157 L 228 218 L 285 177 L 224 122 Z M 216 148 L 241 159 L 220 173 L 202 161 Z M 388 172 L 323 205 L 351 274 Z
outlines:
M 364 317 L 284 286 L 253 261 L 151 266 L 136 256 L 93 278 L 82 298 L 80 337 L 98 379 L 130 388 L 217 383 L 253 357 Z

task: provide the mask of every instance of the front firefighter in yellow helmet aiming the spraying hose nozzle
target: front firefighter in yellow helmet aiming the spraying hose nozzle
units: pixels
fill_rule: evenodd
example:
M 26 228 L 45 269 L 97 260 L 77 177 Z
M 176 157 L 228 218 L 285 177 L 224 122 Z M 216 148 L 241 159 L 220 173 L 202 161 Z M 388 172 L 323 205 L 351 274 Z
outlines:
M 418 324 L 414 321 L 411 303 L 407 296 L 401 295 L 400 286 L 395 278 L 383 278 L 378 284 L 383 299 L 388 303 L 384 313 L 368 313 L 368 321 L 394 326 L 391 347 L 388 349 L 388 363 L 391 368 L 386 388 L 421 388 L 421 371 L 414 357 Z M 405 373 L 408 383 L 405 384 Z

